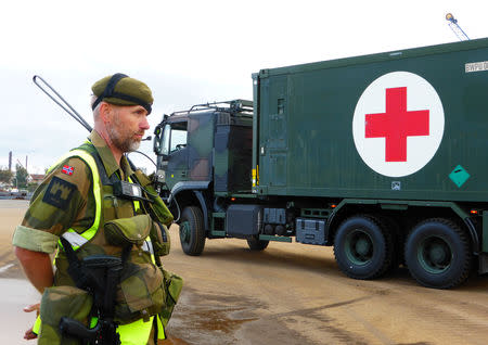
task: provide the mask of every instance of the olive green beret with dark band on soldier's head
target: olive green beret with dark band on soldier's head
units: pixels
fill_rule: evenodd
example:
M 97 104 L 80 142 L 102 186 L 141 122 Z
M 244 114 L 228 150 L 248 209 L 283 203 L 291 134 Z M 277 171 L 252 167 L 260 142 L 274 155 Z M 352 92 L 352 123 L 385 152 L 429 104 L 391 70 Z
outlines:
M 115 105 L 142 105 L 151 113 L 154 101 L 151 89 L 144 82 L 124 74 L 106 76 L 93 84 L 91 90 L 98 97 L 92 105 L 93 110 L 104 101 Z

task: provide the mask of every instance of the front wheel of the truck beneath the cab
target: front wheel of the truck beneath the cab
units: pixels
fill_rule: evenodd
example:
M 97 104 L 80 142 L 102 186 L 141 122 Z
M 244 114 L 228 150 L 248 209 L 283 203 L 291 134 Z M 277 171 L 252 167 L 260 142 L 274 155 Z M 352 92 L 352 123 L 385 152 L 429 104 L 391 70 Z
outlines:
M 180 242 L 184 254 L 201 255 L 205 246 L 205 227 L 202 210 L 196 206 L 184 207 L 180 221 Z

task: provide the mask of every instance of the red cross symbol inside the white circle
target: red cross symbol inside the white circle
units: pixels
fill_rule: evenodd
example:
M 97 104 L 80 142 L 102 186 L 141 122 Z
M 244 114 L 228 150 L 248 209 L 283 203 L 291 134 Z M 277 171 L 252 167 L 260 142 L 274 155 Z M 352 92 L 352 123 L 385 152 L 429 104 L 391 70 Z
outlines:
M 407 162 L 407 138 L 428 136 L 429 111 L 407 111 L 407 88 L 386 89 L 386 113 L 365 115 L 365 138 L 385 138 L 385 161 Z

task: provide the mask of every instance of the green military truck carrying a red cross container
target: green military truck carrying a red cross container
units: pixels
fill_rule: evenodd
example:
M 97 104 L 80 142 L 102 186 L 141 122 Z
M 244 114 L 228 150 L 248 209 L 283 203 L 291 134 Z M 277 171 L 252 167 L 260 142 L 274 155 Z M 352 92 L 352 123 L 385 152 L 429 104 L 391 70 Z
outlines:
M 333 245 L 355 279 L 488 271 L 488 39 L 261 69 L 253 87 L 155 130 L 184 253 L 295 239 Z

